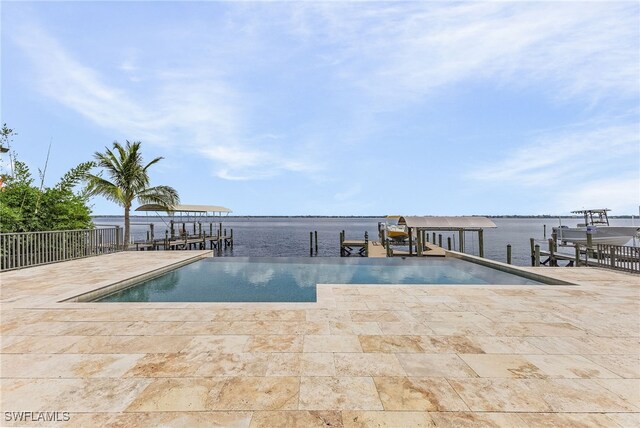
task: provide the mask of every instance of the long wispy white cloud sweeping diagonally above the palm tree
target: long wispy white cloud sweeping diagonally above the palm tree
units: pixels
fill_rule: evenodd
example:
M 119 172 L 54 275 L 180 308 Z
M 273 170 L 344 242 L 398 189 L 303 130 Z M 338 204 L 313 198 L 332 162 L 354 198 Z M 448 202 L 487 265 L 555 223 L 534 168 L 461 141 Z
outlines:
M 203 155 L 215 161 L 215 173 L 224 179 L 318 169 L 300 154 L 270 144 L 272 138 L 258 138 L 256 144 L 256 138 L 246 135 L 241 97 L 213 73 L 197 68 L 164 70 L 151 82 L 145 79 L 155 86 L 150 96 L 144 96 L 106 83 L 42 28 L 24 26 L 14 38 L 31 58 L 42 93 L 101 127 Z M 142 71 L 130 58 L 119 68 L 126 75 Z

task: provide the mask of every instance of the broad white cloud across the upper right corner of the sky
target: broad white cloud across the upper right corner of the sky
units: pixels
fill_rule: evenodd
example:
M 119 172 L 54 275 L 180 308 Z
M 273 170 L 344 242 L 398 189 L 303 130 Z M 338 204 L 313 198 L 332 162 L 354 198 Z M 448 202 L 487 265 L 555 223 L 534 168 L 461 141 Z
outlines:
M 336 47 L 328 63 L 382 102 L 457 82 L 544 83 L 590 103 L 638 91 L 633 2 L 411 2 L 299 5 L 292 31 Z

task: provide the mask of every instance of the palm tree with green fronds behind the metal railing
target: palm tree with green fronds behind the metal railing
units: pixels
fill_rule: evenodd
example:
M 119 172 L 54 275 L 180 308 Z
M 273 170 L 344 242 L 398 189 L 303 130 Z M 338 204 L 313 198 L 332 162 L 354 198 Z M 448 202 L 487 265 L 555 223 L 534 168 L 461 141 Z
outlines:
M 180 202 L 178 192 L 169 186 L 149 187 L 149 167 L 162 160 L 157 157 L 143 166 L 140 141 L 122 147 L 113 142 L 113 150 L 105 147 L 104 153 L 96 152 L 97 166 L 103 168 L 98 174 L 87 174 L 90 196 L 101 195 L 124 207 L 124 242 L 129 242 L 129 211 L 134 199 L 141 204 L 158 204 L 169 208 Z M 103 178 L 106 173 L 109 180 Z

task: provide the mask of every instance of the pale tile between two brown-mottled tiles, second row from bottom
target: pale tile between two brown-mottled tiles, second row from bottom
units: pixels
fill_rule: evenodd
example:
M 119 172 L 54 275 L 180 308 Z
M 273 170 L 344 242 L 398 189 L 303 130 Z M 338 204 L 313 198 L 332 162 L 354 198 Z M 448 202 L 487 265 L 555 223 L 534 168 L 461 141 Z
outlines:
M 302 377 L 300 410 L 383 410 L 370 377 Z

